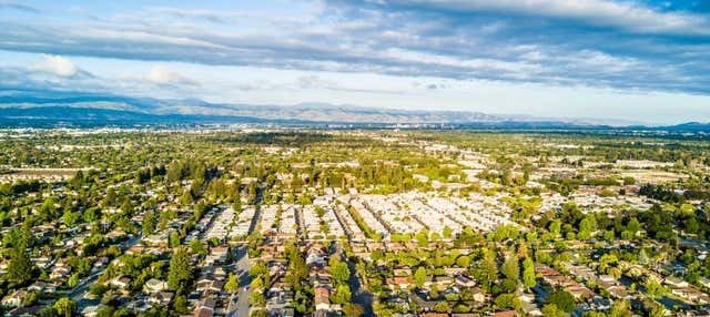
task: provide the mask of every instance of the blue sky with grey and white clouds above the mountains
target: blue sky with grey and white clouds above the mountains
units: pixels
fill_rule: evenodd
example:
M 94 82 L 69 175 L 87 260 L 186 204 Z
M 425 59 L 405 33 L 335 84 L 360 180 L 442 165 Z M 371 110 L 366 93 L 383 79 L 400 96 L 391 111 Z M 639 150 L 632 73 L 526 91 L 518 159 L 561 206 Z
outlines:
M 0 0 L 0 30 L 6 91 L 710 121 L 708 0 Z

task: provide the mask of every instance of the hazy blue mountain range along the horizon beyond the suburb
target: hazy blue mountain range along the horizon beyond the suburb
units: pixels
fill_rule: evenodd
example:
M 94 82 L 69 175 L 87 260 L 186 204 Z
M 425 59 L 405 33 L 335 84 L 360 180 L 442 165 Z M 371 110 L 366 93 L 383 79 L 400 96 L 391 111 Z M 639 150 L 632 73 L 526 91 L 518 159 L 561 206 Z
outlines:
M 473 111 L 416 111 L 343 104 L 293 105 L 209 103 L 54 91 L 0 91 L 0 126 L 134 124 L 446 124 L 499 129 L 663 129 L 710 131 L 709 123 L 643 126 L 627 121 L 548 119 Z

